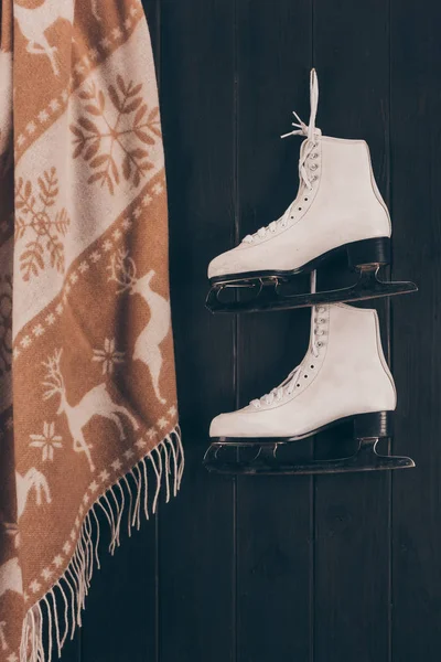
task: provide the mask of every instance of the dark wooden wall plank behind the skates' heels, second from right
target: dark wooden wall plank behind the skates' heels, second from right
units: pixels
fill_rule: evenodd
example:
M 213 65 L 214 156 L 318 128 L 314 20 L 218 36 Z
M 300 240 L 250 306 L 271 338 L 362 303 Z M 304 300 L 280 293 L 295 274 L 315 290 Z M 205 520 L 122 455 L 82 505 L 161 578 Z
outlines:
M 314 0 L 318 126 L 367 140 L 386 200 L 388 39 L 388 2 Z M 387 321 L 387 305 L 368 307 L 383 307 Z M 337 435 L 327 441 L 335 452 Z M 389 487 L 386 473 L 315 480 L 315 662 L 389 660 Z

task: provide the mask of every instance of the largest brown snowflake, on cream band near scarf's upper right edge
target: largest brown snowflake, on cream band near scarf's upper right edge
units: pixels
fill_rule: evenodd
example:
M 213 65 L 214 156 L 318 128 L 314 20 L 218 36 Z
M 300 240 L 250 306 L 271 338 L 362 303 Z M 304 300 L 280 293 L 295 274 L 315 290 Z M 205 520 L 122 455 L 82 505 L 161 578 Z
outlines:
M 107 186 L 110 194 L 121 177 L 138 188 L 153 168 L 148 149 L 161 137 L 159 109 L 148 109 L 141 89 L 141 83 L 117 76 L 107 94 L 95 83 L 79 93 L 85 106 L 84 115 L 71 125 L 74 159 L 83 157 L 93 171 L 88 183 Z

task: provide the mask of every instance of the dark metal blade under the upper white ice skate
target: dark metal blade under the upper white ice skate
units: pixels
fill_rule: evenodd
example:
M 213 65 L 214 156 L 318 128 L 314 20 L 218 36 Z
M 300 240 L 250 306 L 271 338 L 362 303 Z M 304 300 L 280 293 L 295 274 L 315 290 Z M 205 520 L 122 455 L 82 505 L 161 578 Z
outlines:
M 208 292 L 206 308 L 213 313 L 290 310 L 295 308 L 308 308 L 310 306 L 395 297 L 418 291 L 418 287 L 415 282 L 384 282 L 379 280 L 378 270 L 379 267 L 376 265 L 362 268 L 359 270 L 358 281 L 351 287 L 313 293 L 305 292 L 301 295 L 284 293 L 284 290 L 288 289 L 290 282 L 284 277 L 273 276 L 261 279 L 256 278 L 243 282 L 216 282 Z M 222 300 L 222 292 L 225 289 L 239 286 L 240 288 L 248 288 L 251 292 L 251 297 L 238 301 Z

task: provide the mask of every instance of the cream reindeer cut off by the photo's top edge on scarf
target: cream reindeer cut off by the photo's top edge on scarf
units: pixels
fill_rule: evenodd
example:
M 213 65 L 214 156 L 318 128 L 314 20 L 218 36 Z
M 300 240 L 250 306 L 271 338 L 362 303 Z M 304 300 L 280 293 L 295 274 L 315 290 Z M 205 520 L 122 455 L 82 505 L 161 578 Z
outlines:
M 93 0 L 96 2 L 96 0 Z M 51 46 L 45 35 L 47 28 L 57 19 L 74 20 L 74 0 L 44 0 L 43 4 L 30 9 L 14 2 L 14 18 L 23 36 L 28 40 L 26 51 L 33 55 L 46 55 L 55 76 L 60 76 L 56 62 L 56 46 Z

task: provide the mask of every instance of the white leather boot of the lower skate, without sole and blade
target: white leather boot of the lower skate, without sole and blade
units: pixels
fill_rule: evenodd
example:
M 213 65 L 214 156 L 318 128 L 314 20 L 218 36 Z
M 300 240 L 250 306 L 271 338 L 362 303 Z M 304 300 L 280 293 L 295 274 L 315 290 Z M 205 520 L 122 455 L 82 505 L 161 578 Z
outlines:
M 301 364 L 268 395 L 216 416 L 209 436 L 228 441 L 302 439 L 348 417 L 361 424 L 365 414 L 381 419 L 396 408 L 396 401 L 377 312 L 343 303 L 323 306 L 313 309 L 310 345 Z

